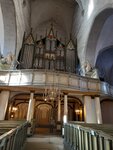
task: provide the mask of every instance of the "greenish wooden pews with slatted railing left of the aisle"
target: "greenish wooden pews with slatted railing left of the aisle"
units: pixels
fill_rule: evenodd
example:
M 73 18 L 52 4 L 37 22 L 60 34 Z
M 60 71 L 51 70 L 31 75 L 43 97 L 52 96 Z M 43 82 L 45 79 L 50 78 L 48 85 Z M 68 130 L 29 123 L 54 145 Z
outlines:
M 0 150 L 21 150 L 28 125 L 22 121 L 0 121 Z

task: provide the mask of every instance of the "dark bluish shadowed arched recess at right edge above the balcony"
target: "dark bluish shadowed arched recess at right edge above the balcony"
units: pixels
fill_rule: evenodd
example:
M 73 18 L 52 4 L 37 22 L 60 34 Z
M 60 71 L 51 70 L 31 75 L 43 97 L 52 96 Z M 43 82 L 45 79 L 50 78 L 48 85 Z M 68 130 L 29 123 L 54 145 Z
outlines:
M 104 48 L 99 52 L 96 68 L 100 80 L 113 85 L 113 46 Z

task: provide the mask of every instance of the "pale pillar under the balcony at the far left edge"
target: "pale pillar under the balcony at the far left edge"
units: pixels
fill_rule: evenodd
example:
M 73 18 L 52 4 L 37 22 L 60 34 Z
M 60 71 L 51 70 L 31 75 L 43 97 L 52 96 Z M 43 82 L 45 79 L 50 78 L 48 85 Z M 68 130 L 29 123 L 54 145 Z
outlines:
M 9 91 L 1 91 L 0 93 L 0 120 L 5 119 L 9 96 L 10 96 Z

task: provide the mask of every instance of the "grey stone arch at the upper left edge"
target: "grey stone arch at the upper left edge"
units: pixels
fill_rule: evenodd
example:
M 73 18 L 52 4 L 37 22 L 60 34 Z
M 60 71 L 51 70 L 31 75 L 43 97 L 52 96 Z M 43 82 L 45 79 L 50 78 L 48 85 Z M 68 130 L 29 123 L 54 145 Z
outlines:
M 2 46 L 1 51 L 3 56 L 9 52 L 15 54 L 16 48 L 16 16 L 13 0 L 1 0 L 2 13 Z

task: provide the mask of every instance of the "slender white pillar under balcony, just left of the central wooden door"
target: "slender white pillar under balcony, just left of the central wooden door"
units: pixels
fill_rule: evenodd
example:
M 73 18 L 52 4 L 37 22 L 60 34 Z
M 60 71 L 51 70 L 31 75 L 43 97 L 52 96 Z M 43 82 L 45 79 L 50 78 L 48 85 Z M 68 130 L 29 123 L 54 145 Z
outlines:
M 31 122 L 34 116 L 34 107 L 35 107 L 35 99 L 34 93 L 30 94 L 28 112 L 27 112 L 27 121 Z

